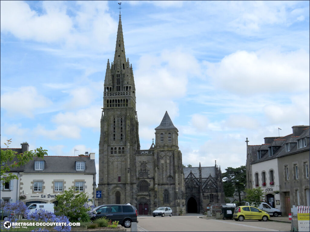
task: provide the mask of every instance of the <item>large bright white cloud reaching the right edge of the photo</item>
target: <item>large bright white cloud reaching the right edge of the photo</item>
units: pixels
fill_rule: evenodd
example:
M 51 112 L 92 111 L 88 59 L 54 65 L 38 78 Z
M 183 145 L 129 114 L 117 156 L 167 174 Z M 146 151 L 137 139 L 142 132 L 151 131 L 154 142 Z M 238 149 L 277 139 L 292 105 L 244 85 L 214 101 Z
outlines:
M 302 50 L 237 51 L 205 64 L 213 83 L 235 94 L 309 91 L 309 54 Z

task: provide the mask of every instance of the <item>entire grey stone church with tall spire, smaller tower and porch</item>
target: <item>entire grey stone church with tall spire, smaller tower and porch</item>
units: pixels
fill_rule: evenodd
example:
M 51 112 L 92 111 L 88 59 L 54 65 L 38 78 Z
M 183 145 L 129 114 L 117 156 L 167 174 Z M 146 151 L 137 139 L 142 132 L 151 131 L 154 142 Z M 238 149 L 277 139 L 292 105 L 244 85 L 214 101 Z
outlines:
M 100 120 L 98 204 L 134 205 L 140 215 L 159 206 L 202 213 L 224 202 L 220 168 L 182 167 L 178 129 L 167 111 L 155 128 L 155 144 L 140 149 L 132 65 L 125 56 L 121 15 L 113 62 L 107 63 Z M 184 176 L 185 174 L 185 176 Z

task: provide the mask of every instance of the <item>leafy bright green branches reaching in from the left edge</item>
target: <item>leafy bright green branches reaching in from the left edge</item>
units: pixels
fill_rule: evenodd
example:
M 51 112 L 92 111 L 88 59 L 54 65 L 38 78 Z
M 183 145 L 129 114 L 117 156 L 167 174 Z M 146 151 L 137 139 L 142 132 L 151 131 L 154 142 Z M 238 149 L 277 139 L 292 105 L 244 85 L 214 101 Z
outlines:
M 4 143 L 7 148 L 9 144 L 11 144 L 11 139 L 7 140 L 7 143 Z M 6 182 L 10 182 L 10 180 L 18 179 L 16 175 L 12 173 L 8 173 L 11 168 L 19 167 L 20 165 L 25 165 L 29 162 L 29 160 L 33 160 L 34 156 L 43 157 L 47 155 L 47 150 L 43 150 L 42 147 L 37 148 L 35 151 L 25 151 L 24 153 L 18 154 L 17 152 L 12 151 L 11 149 L 2 150 L 1 149 L 1 162 L 4 162 L 4 165 L 0 167 L 0 180 L 4 185 Z

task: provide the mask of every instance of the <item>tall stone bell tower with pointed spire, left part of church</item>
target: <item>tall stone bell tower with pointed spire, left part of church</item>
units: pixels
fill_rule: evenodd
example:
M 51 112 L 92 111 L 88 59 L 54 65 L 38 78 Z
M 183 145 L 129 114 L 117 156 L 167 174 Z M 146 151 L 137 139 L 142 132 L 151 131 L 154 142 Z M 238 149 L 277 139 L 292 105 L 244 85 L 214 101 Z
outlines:
M 107 62 L 100 120 L 98 204 L 135 199 L 135 152 L 140 149 L 132 65 L 125 56 L 121 15 L 113 62 Z

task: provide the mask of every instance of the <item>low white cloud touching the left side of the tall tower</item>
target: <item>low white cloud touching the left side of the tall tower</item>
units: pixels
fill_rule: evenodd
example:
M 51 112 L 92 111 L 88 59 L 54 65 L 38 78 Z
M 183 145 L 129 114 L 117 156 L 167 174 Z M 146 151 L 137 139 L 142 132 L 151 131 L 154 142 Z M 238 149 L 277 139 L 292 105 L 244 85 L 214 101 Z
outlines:
M 95 105 L 76 112 L 59 113 L 52 121 L 60 125 L 100 128 L 102 106 Z

